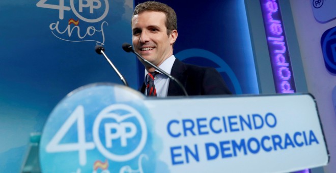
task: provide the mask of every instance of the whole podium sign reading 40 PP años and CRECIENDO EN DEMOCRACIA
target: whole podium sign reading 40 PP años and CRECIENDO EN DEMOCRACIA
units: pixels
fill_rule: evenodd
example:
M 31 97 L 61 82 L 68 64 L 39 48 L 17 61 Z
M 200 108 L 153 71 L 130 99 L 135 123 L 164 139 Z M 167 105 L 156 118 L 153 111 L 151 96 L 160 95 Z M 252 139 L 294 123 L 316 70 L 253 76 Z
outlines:
M 160 99 L 92 84 L 54 108 L 40 143 L 43 172 L 289 172 L 328 159 L 304 94 Z

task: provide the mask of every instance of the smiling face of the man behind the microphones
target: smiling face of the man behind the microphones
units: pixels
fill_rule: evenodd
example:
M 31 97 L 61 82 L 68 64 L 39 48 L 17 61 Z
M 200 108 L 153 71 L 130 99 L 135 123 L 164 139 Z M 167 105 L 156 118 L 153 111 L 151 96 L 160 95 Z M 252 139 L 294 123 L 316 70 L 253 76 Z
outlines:
M 134 50 L 156 66 L 173 54 L 177 38 L 176 30 L 167 35 L 165 20 L 163 12 L 154 11 L 145 11 L 132 18 Z

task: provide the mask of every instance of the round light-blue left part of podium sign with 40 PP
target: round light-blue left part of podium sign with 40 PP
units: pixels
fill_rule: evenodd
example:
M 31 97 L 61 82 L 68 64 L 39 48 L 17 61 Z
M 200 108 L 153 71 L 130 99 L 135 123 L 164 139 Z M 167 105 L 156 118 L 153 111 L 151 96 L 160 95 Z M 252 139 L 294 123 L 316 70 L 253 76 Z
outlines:
M 150 114 L 141 94 L 89 85 L 70 93 L 43 130 L 43 172 L 153 172 Z

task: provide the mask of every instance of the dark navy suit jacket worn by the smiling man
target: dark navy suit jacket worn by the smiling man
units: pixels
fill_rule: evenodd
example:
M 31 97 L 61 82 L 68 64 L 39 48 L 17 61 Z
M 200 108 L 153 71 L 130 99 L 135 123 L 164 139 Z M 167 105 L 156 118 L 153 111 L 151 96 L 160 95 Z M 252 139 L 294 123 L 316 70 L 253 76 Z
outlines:
M 171 75 L 182 83 L 189 96 L 231 94 L 223 78 L 216 69 L 211 67 L 185 64 L 176 59 Z M 146 85 L 144 82 L 139 91 L 144 93 L 145 89 Z M 170 81 L 167 96 L 183 95 L 183 91 L 179 85 L 174 81 Z

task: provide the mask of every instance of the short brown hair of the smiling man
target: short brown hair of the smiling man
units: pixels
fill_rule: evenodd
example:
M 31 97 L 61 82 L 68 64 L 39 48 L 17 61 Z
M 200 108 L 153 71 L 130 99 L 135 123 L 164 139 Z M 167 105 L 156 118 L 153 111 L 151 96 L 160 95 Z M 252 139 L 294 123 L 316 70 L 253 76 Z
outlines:
M 167 28 L 167 35 L 171 34 L 173 30 L 177 30 L 176 13 L 174 9 L 167 6 L 166 4 L 155 1 L 147 1 L 145 3 L 138 4 L 134 9 L 132 19 L 134 15 L 140 14 L 145 11 L 163 12 L 165 14 L 165 26 Z

